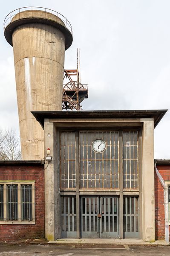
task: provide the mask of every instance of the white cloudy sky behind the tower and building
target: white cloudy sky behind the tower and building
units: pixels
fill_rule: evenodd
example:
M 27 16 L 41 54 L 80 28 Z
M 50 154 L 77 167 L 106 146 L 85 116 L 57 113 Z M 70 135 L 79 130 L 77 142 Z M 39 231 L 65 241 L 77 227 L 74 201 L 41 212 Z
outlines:
M 9 0 L 0 8 L 0 128 L 19 132 L 13 49 L 3 20 L 24 6 L 54 9 L 72 24 L 65 68 L 76 67 L 81 48 L 81 82 L 89 86 L 84 110 L 170 108 L 169 0 Z M 169 130 L 168 111 L 155 129 L 155 158 L 170 159 Z

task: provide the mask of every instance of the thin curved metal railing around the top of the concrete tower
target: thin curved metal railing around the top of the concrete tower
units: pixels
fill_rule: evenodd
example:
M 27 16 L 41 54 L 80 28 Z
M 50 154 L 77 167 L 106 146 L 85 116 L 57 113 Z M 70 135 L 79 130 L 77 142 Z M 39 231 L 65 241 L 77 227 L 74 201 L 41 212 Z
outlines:
M 38 6 L 27 6 L 27 7 L 22 7 L 22 8 L 19 8 L 19 9 L 16 9 L 12 12 L 10 12 L 6 17 L 5 17 L 5 20 L 3 22 L 3 29 L 5 30 L 6 27 L 9 25 L 9 23 L 12 22 L 12 17 L 14 17 L 15 15 L 17 15 L 18 13 L 20 12 L 24 12 L 24 11 L 32 11 L 32 17 L 33 17 L 33 11 L 43 11 L 45 12 L 45 14 L 48 12 L 48 13 L 51 13 L 55 16 L 57 16 L 58 18 L 60 18 L 63 23 L 65 24 L 66 28 L 69 29 L 69 31 L 72 33 L 72 26 L 69 22 L 69 20 L 66 19 L 66 17 L 64 17 L 61 13 L 59 12 L 55 12 L 54 10 L 52 9 L 48 9 L 48 8 L 43 8 L 43 7 L 38 7 Z M 20 19 L 20 17 L 19 17 Z M 22 18 L 21 18 L 22 19 Z M 48 19 L 48 16 L 46 17 L 45 16 L 45 19 Z

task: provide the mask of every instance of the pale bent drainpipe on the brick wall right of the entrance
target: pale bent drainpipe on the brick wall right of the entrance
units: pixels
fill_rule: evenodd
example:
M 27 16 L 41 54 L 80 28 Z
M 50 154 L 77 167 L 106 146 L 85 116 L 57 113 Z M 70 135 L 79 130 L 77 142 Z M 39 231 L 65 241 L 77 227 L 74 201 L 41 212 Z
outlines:
M 160 175 L 160 173 L 158 172 L 158 169 L 156 168 L 156 163 L 155 163 L 155 170 L 156 170 L 156 174 L 158 176 L 158 180 L 160 181 L 163 189 L 164 189 L 164 215 L 165 215 L 165 241 L 169 243 L 169 219 L 167 218 L 168 216 L 168 203 L 167 203 L 167 194 L 168 194 L 168 188 L 165 185 L 164 179 L 163 177 Z

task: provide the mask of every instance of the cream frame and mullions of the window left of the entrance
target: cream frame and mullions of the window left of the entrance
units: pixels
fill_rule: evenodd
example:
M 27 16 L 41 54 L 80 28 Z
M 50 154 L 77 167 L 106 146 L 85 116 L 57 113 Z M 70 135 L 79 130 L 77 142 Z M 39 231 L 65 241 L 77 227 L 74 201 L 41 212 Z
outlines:
M 0 224 L 35 224 L 35 180 L 0 180 L 0 185 L 3 185 L 3 216 L 4 220 Z M 17 185 L 18 189 L 18 220 L 8 221 L 8 185 Z M 32 185 L 32 221 L 22 221 L 22 189 L 21 185 Z

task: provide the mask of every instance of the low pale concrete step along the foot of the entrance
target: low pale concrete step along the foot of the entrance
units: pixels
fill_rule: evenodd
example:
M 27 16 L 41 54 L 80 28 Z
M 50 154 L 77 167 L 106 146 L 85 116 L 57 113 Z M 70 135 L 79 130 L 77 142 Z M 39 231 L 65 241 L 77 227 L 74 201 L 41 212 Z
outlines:
M 155 242 L 145 242 L 141 239 L 57 239 L 49 241 L 48 244 L 128 244 L 128 245 L 169 245 L 170 243 L 164 240 L 157 240 Z

